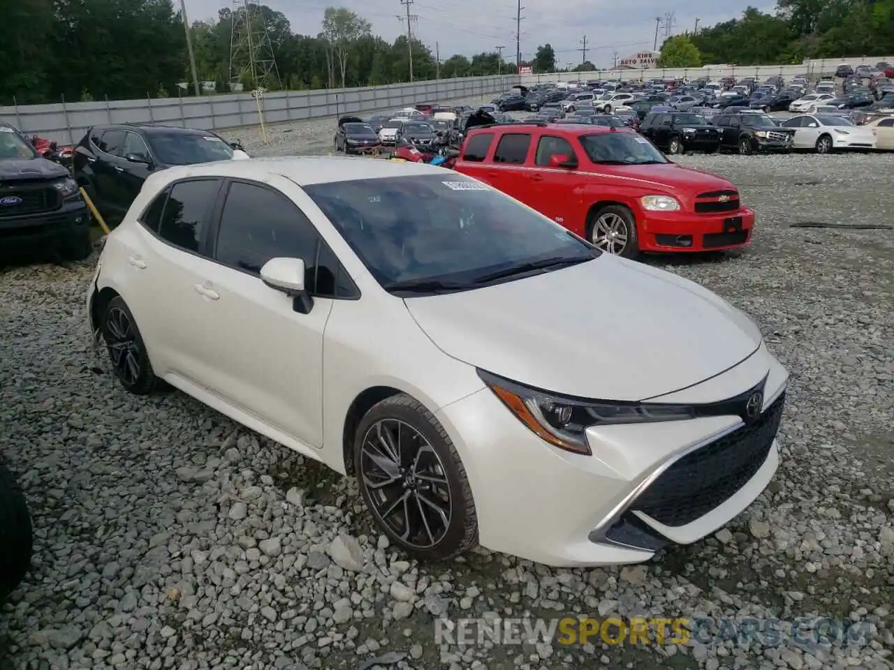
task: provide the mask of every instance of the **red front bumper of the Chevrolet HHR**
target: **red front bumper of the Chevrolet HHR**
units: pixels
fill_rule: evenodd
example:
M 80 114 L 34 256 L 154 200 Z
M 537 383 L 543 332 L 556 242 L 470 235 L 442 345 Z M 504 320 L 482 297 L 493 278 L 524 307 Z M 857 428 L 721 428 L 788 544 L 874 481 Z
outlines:
M 751 243 L 754 227 L 755 212 L 747 207 L 719 214 L 644 212 L 637 216 L 639 248 L 649 253 L 745 247 Z

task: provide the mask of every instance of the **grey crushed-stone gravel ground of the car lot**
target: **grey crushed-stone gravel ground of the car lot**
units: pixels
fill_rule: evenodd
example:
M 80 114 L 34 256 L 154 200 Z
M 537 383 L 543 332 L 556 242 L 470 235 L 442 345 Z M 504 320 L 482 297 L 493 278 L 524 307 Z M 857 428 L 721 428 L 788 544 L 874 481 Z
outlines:
M 274 130 L 283 147 L 325 122 L 287 130 Z M 152 670 L 374 659 L 889 667 L 894 233 L 847 226 L 894 219 L 894 155 L 679 162 L 738 184 L 759 217 L 755 243 L 647 262 L 753 314 L 791 373 L 780 472 L 715 537 L 622 569 L 554 570 L 484 550 L 419 565 L 372 530 L 353 481 L 181 393 L 134 398 L 95 372 L 81 315 L 93 262 L 31 264 L 0 275 L 0 451 L 21 474 L 37 532 L 32 573 L 0 608 L 0 659 Z M 862 622 L 867 635 L 851 646 L 434 646 L 435 616 L 493 613 L 828 616 Z

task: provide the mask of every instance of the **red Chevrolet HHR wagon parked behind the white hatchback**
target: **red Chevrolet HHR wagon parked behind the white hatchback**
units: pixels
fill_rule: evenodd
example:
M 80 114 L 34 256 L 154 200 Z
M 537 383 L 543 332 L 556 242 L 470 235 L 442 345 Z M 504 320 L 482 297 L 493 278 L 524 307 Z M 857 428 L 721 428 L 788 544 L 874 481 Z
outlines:
M 592 124 L 475 128 L 455 169 L 628 258 L 743 247 L 755 225 L 730 181 L 672 163 L 637 133 Z

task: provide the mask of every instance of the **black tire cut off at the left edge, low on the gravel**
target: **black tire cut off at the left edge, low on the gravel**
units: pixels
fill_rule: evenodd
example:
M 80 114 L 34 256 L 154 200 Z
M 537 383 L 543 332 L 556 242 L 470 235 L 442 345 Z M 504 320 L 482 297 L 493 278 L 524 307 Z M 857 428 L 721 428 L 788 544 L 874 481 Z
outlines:
M 28 501 L 0 458 L 0 601 L 17 587 L 31 566 L 34 535 Z

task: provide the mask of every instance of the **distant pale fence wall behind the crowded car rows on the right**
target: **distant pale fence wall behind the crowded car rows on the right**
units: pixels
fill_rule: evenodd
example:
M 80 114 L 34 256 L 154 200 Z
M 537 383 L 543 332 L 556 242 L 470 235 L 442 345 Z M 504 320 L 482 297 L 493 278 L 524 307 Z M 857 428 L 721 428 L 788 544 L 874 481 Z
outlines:
M 797 74 L 806 74 L 818 79 L 822 74 L 834 74 L 835 68 L 841 63 L 848 63 L 852 67 L 857 65 L 875 65 L 876 63 L 891 63 L 894 65 L 894 55 L 891 56 L 865 56 L 863 58 L 840 58 L 828 60 L 805 61 L 800 65 L 705 65 L 700 68 L 665 68 L 656 70 L 596 70 L 590 72 L 554 72 L 549 74 L 523 74 L 521 82 L 526 86 L 544 83 L 546 81 L 567 80 L 650 80 L 656 77 L 687 77 L 696 80 L 699 77 L 719 79 L 721 77 L 758 77 L 765 80 L 774 74 L 780 74 L 790 79 Z

